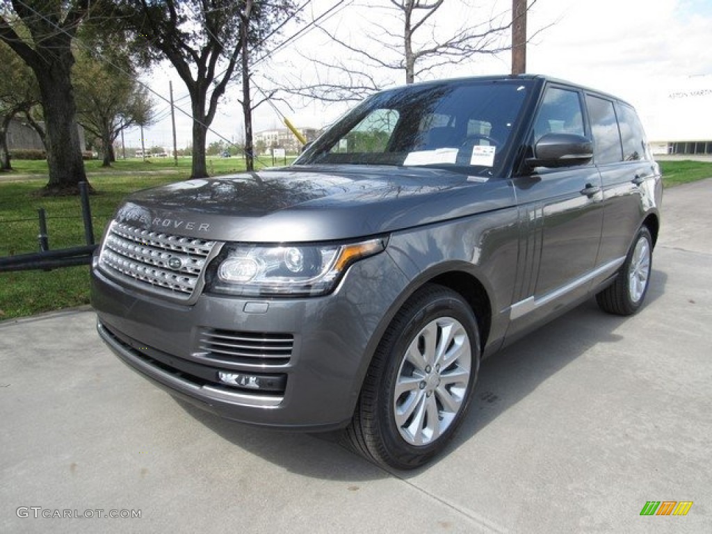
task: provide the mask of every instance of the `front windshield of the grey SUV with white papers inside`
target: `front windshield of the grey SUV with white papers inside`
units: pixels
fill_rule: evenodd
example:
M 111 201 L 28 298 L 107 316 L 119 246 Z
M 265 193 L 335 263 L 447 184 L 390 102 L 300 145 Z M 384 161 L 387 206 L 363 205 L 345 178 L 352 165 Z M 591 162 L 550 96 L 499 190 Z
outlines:
M 365 100 L 295 164 L 436 166 L 491 174 L 507 152 L 528 80 L 411 85 Z

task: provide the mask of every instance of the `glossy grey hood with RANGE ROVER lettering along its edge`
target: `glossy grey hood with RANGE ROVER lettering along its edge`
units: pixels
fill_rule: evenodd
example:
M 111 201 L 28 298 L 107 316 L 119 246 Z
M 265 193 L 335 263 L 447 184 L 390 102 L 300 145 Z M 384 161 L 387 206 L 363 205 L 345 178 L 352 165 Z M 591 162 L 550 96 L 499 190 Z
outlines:
M 507 182 L 442 169 L 288 167 L 132 194 L 116 218 L 219 241 L 327 241 L 382 234 L 513 204 Z

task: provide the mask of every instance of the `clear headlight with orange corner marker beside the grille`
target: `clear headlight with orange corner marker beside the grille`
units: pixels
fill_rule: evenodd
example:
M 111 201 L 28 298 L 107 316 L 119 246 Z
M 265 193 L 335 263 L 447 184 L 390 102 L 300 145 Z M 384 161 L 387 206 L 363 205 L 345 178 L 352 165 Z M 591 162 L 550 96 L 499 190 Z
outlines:
M 324 295 L 348 266 L 384 250 L 387 239 L 349 244 L 226 244 L 206 274 L 207 290 L 241 296 Z

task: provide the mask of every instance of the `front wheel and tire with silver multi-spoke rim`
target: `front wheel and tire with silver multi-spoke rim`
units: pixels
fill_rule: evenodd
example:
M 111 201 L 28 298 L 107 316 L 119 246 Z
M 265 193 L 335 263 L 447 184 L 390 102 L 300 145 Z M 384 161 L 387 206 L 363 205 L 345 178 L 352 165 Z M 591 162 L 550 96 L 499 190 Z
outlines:
M 347 444 L 382 466 L 426 464 L 454 436 L 472 397 L 480 338 L 470 306 L 429 284 L 399 310 L 375 352 Z

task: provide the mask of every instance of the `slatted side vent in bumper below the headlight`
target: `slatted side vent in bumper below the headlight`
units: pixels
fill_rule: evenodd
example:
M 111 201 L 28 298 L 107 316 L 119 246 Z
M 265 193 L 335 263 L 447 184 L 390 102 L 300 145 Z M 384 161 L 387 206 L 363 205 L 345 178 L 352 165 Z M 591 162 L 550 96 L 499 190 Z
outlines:
M 291 334 L 235 332 L 205 328 L 201 330 L 199 348 L 203 357 L 223 362 L 249 365 L 286 365 L 292 355 Z

